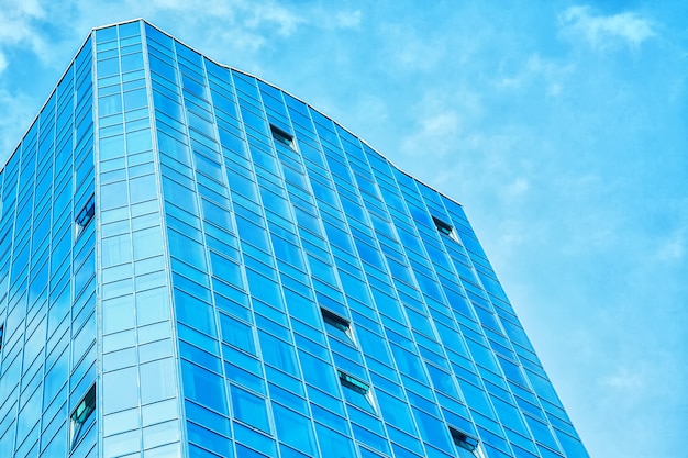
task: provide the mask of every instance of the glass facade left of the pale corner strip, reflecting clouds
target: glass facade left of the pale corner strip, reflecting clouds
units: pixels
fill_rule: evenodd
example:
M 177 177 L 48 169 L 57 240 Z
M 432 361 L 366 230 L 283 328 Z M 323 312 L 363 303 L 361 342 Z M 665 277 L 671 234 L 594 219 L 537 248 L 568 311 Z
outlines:
M 87 41 L 0 171 L 2 457 L 66 456 L 97 378 L 95 223 L 75 224 L 95 191 L 91 68 Z

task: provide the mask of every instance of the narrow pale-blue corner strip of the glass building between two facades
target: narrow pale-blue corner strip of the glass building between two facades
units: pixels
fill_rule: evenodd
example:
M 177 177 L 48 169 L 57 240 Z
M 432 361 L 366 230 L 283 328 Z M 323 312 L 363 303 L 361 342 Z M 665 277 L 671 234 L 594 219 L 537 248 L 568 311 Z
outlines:
M 182 453 L 160 166 L 142 26 L 132 22 L 95 32 L 103 457 Z

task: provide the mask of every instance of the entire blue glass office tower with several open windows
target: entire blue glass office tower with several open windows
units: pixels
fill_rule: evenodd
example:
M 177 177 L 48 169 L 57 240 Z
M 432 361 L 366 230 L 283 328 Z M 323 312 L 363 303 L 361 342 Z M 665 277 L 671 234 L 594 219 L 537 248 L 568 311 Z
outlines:
M 0 456 L 588 456 L 459 204 L 143 21 L 0 205 Z

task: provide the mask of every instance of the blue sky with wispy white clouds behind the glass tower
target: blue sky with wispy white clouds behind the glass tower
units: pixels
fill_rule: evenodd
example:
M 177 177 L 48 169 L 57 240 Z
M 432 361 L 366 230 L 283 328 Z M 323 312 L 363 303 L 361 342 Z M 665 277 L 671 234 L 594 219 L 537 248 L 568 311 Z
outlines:
M 0 0 L 0 163 L 133 18 L 462 202 L 590 455 L 685 456 L 688 2 Z

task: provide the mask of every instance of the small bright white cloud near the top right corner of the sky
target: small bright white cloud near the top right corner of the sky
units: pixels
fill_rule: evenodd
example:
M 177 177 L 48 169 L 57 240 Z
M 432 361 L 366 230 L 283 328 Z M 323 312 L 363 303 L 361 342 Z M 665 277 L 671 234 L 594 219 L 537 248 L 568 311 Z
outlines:
M 565 35 L 581 36 L 590 46 L 603 49 L 623 43 L 640 46 L 655 35 L 652 23 L 636 13 L 596 15 L 590 7 L 570 7 L 559 15 Z

